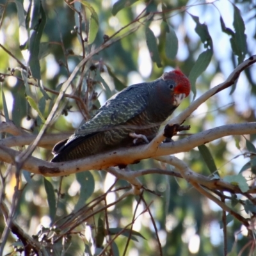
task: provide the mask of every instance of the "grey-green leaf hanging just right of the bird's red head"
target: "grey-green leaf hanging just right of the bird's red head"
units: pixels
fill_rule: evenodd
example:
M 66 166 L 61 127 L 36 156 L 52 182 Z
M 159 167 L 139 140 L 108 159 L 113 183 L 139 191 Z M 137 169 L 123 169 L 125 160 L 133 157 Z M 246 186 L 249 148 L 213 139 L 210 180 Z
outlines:
M 196 97 L 196 79 L 204 72 L 204 70 L 208 67 L 211 58 L 212 58 L 212 49 L 208 49 L 202 52 L 198 59 L 195 62 L 195 65 L 191 69 L 189 73 L 189 81 L 191 83 L 191 90 L 194 93 L 194 99 Z

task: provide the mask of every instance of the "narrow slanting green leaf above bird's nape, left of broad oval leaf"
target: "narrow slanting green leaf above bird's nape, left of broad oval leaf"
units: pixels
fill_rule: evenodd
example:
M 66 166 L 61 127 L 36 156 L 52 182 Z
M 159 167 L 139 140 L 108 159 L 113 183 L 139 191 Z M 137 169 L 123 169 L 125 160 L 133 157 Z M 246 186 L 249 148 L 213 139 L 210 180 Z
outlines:
M 147 46 L 150 53 L 150 57 L 153 62 L 156 62 L 157 67 L 162 67 L 161 58 L 159 55 L 159 51 L 157 49 L 157 40 L 156 36 L 152 32 L 152 30 L 146 27 L 146 40 Z

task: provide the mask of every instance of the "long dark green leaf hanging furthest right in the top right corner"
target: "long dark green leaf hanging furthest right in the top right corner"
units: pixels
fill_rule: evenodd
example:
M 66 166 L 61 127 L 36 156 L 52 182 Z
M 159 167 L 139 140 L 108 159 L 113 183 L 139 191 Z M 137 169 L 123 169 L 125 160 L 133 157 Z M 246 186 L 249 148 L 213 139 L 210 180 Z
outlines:
M 233 6 L 234 6 L 233 26 L 236 31 L 236 34 L 235 34 L 236 44 L 237 44 L 237 47 L 239 48 L 239 51 L 241 54 L 239 62 L 242 62 L 247 53 L 247 44 L 246 44 L 247 36 L 244 33 L 244 31 L 245 31 L 244 20 L 241 17 L 240 10 L 237 8 L 237 6 L 235 4 L 233 4 Z

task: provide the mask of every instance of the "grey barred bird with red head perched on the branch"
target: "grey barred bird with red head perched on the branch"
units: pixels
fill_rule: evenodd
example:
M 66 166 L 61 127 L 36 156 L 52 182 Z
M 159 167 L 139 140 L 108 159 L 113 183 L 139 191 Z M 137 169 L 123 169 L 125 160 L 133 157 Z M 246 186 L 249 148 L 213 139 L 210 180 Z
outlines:
M 179 69 L 154 81 L 128 86 L 107 100 L 70 138 L 58 142 L 51 162 L 148 143 L 190 90 L 188 77 Z

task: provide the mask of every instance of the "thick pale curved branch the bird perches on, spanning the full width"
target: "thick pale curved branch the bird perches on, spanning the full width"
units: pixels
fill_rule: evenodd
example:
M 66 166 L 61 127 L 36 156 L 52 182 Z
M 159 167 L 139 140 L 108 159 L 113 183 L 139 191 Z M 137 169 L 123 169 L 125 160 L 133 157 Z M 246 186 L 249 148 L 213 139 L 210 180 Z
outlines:
M 204 143 L 222 138 L 228 135 L 243 135 L 256 133 L 256 122 L 246 124 L 223 125 L 204 132 L 199 132 L 179 141 L 161 143 L 157 148 L 148 150 L 148 145 L 132 148 L 120 148 L 104 154 L 77 159 L 62 163 L 49 163 L 36 157 L 29 157 L 22 168 L 29 172 L 45 176 L 63 176 L 86 170 L 102 170 L 119 164 L 131 164 L 141 159 L 159 157 L 179 152 L 189 151 Z M 6 163 L 14 163 L 13 159 L 20 152 L 0 145 L 0 160 Z M 123 172 L 123 171 L 122 171 Z

